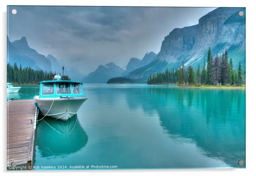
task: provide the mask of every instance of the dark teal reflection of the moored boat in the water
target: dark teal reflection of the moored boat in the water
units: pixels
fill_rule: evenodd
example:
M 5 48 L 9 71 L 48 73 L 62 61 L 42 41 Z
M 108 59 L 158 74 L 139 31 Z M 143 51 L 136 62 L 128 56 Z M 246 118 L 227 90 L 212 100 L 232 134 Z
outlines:
M 66 122 L 45 118 L 38 126 L 36 145 L 42 157 L 72 154 L 88 142 L 77 115 Z

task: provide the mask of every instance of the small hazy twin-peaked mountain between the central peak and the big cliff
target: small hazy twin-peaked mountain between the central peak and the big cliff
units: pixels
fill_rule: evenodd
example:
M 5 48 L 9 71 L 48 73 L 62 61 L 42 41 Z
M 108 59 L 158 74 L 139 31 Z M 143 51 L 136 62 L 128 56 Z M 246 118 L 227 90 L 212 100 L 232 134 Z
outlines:
M 142 60 L 131 58 L 126 66 L 125 71 L 122 73 L 122 76 L 128 75 L 128 73 L 132 72 L 133 70 L 149 64 L 155 57 L 156 53 L 151 51 L 150 53 L 146 53 Z

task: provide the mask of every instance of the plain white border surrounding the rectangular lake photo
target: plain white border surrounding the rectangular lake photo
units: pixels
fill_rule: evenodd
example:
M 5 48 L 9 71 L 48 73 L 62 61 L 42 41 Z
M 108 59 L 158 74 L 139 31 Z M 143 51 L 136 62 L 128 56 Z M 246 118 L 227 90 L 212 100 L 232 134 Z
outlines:
M 3 157 L 1 157 L 1 170 L 6 174 L 6 6 L 7 5 L 62 5 L 62 6 L 197 6 L 197 7 L 246 7 L 246 169 L 173 169 L 173 170 L 76 170 L 76 171 L 46 171 L 47 174 L 61 174 L 63 176 L 70 176 L 71 172 L 75 172 L 78 175 L 87 174 L 99 174 L 112 176 L 112 175 L 141 175 L 147 174 L 153 176 L 156 174 L 161 175 L 189 175 L 189 176 L 216 176 L 216 175 L 251 175 L 256 173 L 256 112 L 255 112 L 255 76 L 256 76 L 256 6 L 253 1 L 245 0 L 1 0 L 1 41 L 0 41 L 0 53 L 1 53 L 1 86 L 0 93 L 1 98 L 1 151 Z M 22 171 L 16 174 L 20 175 L 42 175 L 46 172 L 40 171 Z M 14 172 L 11 172 L 13 174 Z

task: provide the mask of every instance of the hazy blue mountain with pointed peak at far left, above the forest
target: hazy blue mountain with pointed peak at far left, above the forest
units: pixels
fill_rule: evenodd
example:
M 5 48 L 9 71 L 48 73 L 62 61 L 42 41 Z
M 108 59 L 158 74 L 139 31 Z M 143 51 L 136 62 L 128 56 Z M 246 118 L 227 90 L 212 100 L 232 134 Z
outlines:
M 29 47 L 25 36 L 23 36 L 20 40 L 15 40 L 14 42 L 11 42 L 11 45 L 15 47 L 20 54 L 34 60 L 37 67 L 39 67 L 40 69 L 51 71 L 51 61 L 47 59 L 46 56 L 37 53 L 36 50 Z M 12 50 L 9 50 L 9 53 L 10 52 L 12 52 Z

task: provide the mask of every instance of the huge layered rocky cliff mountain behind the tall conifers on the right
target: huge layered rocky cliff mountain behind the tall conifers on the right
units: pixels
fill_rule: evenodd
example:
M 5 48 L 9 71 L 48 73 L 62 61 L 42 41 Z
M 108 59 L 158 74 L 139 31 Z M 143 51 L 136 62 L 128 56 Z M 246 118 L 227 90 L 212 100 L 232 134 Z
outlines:
M 239 11 L 244 12 L 242 17 Z M 213 56 L 227 49 L 234 67 L 241 61 L 245 68 L 245 8 L 216 8 L 201 17 L 197 25 L 175 28 L 165 36 L 154 61 L 132 71 L 128 77 L 145 81 L 150 74 L 166 67 L 180 67 L 182 61 L 185 66 L 202 67 L 208 47 Z

